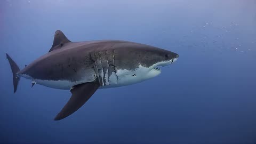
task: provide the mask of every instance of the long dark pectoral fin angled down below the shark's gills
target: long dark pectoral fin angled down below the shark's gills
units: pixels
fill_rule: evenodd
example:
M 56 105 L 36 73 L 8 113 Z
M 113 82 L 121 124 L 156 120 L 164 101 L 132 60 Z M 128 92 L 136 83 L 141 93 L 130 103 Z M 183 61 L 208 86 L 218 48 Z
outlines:
M 99 84 L 97 82 L 88 82 L 75 85 L 70 90 L 70 92 L 72 93 L 71 98 L 62 108 L 60 113 L 54 118 L 54 121 L 58 121 L 73 114 L 76 110 L 81 108 L 87 100 L 92 97 L 93 93 L 98 88 Z

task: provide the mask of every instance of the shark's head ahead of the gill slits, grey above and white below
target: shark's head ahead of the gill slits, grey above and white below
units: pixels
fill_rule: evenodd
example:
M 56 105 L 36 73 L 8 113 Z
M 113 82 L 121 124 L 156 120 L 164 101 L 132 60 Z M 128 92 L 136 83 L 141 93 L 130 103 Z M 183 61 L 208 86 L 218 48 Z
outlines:
M 126 43 L 114 50 L 115 68 L 119 84 L 145 81 L 161 74 L 159 67 L 168 66 L 179 58 L 177 53 L 157 47 Z

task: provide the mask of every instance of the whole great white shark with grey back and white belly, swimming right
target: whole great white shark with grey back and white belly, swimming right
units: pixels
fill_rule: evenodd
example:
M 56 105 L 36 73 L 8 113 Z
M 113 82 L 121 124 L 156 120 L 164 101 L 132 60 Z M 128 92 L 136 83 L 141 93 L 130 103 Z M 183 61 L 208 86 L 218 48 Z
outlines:
M 14 93 L 20 77 L 35 84 L 70 90 L 71 98 L 54 120 L 63 119 L 84 105 L 98 89 L 139 83 L 161 73 L 159 66 L 176 61 L 177 53 L 127 41 L 71 42 L 57 30 L 48 53 L 20 70 L 6 53 Z

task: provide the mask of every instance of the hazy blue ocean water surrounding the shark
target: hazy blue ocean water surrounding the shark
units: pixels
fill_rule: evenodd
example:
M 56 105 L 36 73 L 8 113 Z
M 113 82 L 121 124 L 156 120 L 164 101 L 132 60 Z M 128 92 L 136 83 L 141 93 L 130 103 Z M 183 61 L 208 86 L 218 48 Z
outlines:
M 256 1 L 0 2 L 0 143 L 256 143 Z M 70 92 L 21 78 L 55 30 L 71 41 L 121 39 L 176 52 L 148 81 L 98 90 L 53 121 Z

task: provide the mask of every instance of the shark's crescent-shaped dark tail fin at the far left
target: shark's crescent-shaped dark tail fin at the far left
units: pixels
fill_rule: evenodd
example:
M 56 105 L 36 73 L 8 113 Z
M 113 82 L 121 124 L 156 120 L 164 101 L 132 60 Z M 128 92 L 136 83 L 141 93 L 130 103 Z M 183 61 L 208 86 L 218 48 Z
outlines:
M 20 68 L 17 66 L 17 64 L 12 60 L 12 58 L 7 53 L 6 53 L 6 58 L 8 59 L 11 69 L 12 69 L 13 90 L 15 93 L 17 91 L 17 86 L 20 81 L 20 77 L 17 75 L 17 73 L 20 71 Z

